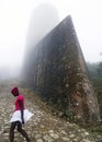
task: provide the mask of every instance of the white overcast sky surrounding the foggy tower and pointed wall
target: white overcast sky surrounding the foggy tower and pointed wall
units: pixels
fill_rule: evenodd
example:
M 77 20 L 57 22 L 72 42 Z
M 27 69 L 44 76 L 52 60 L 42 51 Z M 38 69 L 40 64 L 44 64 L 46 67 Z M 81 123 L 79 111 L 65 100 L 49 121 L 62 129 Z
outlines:
M 60 21 L 71 15 L 86 61 L 102 61 L 102 0 L 0 0 L 0 67 L 22 64 L 32 12 L 46 1 Z

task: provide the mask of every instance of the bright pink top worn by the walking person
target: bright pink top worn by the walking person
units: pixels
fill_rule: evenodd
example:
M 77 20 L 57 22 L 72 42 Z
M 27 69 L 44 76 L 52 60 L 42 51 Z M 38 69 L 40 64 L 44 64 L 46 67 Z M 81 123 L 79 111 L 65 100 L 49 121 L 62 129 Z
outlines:
M 24 109 L 24 96 L 20 94 L 19 96 L 16 96 L 16 99 L 15 99 L 15 103 L 14 103 L 14 104 L 15 104 L 15 109 L 14 109 L 14 111 L 16 111 L 16 110 L 21 110 L 21 107 L 20 107 L 19 100 L 22 102 L 23 109 Z

